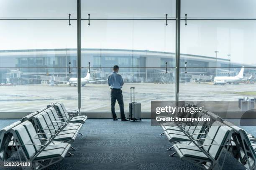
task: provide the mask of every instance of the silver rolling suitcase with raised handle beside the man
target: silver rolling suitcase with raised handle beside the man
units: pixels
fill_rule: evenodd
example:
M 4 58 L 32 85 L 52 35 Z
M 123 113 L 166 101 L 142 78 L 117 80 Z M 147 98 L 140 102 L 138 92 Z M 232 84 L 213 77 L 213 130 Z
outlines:
M 132 89 L 133 89 L 133 102 L 132 102 Z M 135 87 L 131 87 L 131 103 L 129 103 L 129 121 L 140 120 L 141 121 L 141 103 L 135 102 L 134 99 Z

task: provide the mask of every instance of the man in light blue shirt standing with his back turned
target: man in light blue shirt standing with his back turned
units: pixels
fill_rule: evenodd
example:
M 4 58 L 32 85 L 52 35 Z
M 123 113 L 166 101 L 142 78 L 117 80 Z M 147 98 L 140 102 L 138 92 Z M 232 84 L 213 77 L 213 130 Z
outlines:
M 115 102 L 118 101 L 118 105 L 120 107 L 121 113 L 121 121 L 127 121 L 124 115 L 124 108 L 123 108 L 123 94 L 122 94 L 122 85 L 123 85 L 123 78 L 120 74 L 118 74 L 119 67 L 118 65 L 114 65 L 113 72 L 108 76 L 108 85 L 111 88 L 111 112 L 113 116 L 113 120 L 118 120 L 115 114 Z

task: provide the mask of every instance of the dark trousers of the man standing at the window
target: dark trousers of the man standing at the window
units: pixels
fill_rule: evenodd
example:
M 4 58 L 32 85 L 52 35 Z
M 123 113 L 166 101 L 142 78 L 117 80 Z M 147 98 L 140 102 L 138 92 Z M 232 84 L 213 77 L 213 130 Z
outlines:
M 121 89 L 111 89 L 111 112 L 114 119 L 116 119 L 115 114 L 115 102 L 118 101 L 120 107 L 121 119 L 125 119 L 124 109 L 123 109 L 123 94 Z

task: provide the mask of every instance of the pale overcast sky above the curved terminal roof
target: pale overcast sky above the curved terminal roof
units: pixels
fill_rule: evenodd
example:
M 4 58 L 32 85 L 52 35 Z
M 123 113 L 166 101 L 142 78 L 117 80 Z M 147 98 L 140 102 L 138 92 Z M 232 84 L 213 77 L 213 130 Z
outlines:
M 169 17 L 175 0 L 81 0 L 82 17 Z M 255 0 L 182 0 L 188 17 L 256 18 Z M 0 17 L 76 17 L 76 0 L 0 0 Z M 0 50 L 76 48 L 76 21 L 0 21 Z M 184 21 L 181 52 L 256 63 L 256 21 Z M 82 48 L 175 52 L 175 22 L 82 21 Z

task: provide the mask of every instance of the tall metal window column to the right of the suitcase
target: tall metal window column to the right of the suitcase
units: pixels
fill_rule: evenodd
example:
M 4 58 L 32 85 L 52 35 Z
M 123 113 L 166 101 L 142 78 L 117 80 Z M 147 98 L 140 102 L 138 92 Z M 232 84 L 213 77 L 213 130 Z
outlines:
M 180 0 L 176 0 L 176 83 L 175 100 L 179 101 L 179 60 L 180 60 Z

